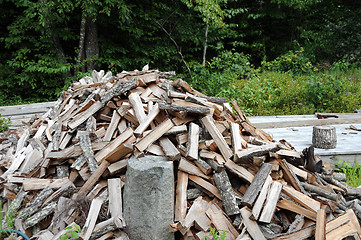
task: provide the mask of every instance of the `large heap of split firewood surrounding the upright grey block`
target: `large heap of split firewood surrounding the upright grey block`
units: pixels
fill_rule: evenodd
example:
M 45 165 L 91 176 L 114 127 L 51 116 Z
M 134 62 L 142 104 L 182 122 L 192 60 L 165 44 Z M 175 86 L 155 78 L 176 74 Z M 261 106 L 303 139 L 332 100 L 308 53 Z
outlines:
M 236 101 L 174 77 L 94 71 L 19 137 L 0 139 L 4 219 L 33 239 L 59 239 L 75 224 L 82 239 L 128 239 L 119 211 L 127 161 L 151 154 L 177 169 L 177 239 L 211 238 L 210 226 L 229 240 L 360 239 L 361 189 L 312 148 L 273 141 Z

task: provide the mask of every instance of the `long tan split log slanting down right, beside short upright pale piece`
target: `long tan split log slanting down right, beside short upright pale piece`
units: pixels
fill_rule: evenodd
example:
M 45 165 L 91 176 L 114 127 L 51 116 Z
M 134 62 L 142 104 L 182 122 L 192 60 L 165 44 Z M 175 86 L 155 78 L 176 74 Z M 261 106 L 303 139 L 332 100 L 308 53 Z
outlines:
M 233 156 L 232 151 L 226 143 L 226 140 L 224 140 L 222 134 L 218 131 L 216 125 L 214 124 L 213 118 L 211 116 L 205 116 L 201 119 L 201 121 L 216 142 L 224 159 L 230 159 Z

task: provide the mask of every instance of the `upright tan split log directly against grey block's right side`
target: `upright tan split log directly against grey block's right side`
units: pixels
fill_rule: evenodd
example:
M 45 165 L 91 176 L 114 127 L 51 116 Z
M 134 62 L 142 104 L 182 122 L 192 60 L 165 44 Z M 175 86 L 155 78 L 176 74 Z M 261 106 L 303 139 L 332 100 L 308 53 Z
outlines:
M 188 174 L 178 171 L 174 208 L 174 221 L 176 222 L 185 219 L 187 214 L 187 186 Z

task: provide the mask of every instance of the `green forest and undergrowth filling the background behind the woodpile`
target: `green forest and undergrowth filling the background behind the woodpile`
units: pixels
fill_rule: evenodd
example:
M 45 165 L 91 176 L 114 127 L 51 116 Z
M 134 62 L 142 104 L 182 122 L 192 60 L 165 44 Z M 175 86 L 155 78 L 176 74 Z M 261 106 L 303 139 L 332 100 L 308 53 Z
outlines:
M 361 108 L 361 1 L 0 0 L 0 12 L 0 105 L 149 64 L 249 115 Z

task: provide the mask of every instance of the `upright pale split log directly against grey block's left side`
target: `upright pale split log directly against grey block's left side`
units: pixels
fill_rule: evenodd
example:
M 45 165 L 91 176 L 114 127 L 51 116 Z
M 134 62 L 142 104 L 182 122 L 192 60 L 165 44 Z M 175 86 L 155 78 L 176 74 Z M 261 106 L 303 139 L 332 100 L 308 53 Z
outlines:
M 109 213 L 113 218 L 123 217 L 122 187 L 120 178 L 108 179 Z

